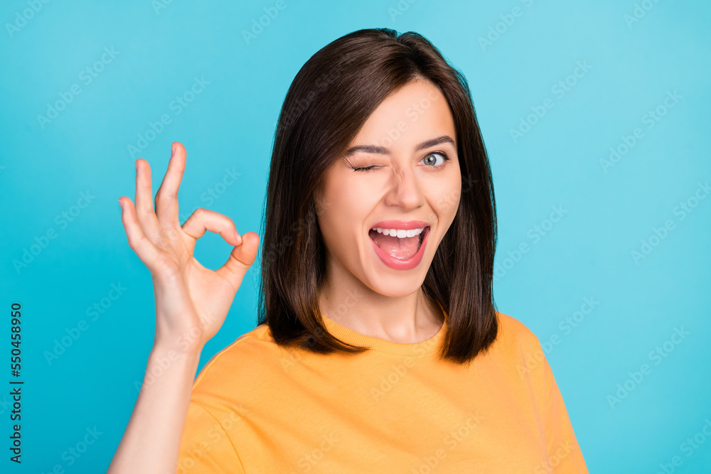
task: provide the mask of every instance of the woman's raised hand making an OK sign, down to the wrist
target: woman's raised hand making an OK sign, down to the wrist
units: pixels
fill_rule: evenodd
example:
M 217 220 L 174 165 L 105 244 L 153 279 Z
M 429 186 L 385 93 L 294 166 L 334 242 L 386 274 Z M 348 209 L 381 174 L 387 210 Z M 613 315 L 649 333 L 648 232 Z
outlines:
M 218 212 L 197 209 L 183 225 L 178 222 L 178 187 L 186 166 L 186 151 L 173 143 L 168 171 L 152 202 L 151 167 L 136 161 L 136 204 L 119 198 L 129 246 L 151 271 L 156 300 L 154 345 L 181 352 L 199 352 L 225 321 L 242 278 L 257 257 L 260 237 L 240 237 L 235 223 Z M 220 269 L 206 269 L 193 257 L 205 230 L 219 233 L 234 245 Z

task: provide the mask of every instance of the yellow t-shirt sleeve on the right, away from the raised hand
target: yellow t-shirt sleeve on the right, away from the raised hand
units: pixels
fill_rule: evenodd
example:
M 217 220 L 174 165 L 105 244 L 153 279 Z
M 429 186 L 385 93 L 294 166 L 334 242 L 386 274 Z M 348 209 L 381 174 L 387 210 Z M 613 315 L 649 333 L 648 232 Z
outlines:
M 562 394 L 555 382 L 548 360 L 543 359 L 543 422 L 545 443 L 550 460 L 550 472 L 555 474 L 587 474 L 587 465 L 573 431 Z

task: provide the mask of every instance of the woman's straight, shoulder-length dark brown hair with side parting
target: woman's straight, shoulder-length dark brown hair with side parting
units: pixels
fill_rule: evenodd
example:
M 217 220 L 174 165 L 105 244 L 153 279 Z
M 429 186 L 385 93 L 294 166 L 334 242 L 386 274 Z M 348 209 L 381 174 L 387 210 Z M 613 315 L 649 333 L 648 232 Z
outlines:
M 460 364 L 496 339 L 492 294 L 496 249 L 493 181 L 469 85 L 426 38 L 390 28 L 353 31 L 316 52 L 289 87 L 277 122 L 264 205 L 258 323 L 279 345 L 328 354 L 363 352 L 333 337 L 321 320 L 318 289 L 325 252 L 314 195 L 331 163 L 380 102 L 424 78 L 449 102 L 462 176 L 459 208 L 422 284 L 444 310 L 447 334 L 439 354 Z

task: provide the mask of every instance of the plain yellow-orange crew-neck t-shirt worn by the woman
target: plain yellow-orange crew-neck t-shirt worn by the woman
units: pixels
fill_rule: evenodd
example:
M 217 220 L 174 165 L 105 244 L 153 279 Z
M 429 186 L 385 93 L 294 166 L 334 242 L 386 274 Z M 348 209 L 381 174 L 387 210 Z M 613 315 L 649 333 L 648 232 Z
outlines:
M 447 323 L 400 344 L 324 318 L 358 355 L 286 350 L 258 325 L 196 378 L 177 473 L 587 473 L 538 338 L 498 316 L 468 368 L 437 357 Z

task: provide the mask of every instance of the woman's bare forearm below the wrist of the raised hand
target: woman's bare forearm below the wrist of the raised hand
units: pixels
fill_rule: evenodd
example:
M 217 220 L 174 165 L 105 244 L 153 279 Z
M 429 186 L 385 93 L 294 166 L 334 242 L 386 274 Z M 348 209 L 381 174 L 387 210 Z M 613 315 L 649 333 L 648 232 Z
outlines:
M 200 352 L 155 345 L 107 474 L 175 473 Z

